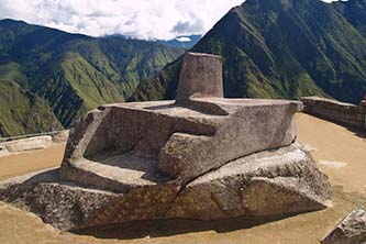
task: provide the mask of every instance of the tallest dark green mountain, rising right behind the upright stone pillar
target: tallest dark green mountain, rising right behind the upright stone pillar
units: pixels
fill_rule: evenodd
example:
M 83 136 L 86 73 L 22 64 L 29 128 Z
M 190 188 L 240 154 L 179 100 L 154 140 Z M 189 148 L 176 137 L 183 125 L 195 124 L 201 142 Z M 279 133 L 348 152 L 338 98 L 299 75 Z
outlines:
M 366 1 L 246 0 L 191 49 L 222 55 L 226 97 L 333 97 L 366 92 Z M 130 100 L 171 99 L 181 60 L 143 81 Z

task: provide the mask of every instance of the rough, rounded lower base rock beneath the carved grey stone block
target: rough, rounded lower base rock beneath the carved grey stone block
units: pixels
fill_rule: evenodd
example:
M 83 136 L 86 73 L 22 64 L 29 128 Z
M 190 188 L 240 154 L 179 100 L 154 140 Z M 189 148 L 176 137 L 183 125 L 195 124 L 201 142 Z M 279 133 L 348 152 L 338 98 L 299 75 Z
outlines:
M 332 197 L 328 177 L 298 144 L 232 160 L 182 187 L 156 181 L 111 192 L 65 181 L 58 171 L 2 181 L 0 200 L 67 231 L 152 219 L 286 215 L 326 208 Z

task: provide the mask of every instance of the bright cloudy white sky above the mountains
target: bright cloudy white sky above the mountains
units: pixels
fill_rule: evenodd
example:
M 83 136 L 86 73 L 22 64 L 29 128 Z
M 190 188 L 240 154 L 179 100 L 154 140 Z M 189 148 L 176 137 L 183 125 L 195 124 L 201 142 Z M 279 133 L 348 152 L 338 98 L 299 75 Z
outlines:
M 170 40 L 204 34 L 244 0 L 0 0 L 0 19 L 91 36 Z M 326 0 L 331 1 L 331 0 Z

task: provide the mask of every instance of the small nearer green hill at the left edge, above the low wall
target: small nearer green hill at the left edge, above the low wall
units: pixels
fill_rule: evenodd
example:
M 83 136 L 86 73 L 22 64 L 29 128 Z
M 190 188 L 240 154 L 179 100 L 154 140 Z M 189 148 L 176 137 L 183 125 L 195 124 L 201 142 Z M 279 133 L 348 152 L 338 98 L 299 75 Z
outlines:
M 47 102 L 13 80 L 0 80 L 0 136 L 62 129 Z

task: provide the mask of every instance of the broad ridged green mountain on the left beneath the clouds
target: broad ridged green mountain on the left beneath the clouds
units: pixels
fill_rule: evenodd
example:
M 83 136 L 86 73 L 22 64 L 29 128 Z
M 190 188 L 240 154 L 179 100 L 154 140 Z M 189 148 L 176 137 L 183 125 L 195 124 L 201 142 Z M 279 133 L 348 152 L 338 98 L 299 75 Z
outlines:
M 90 109 L 125 101 L 140 80 L 156 75 L 182 52 L 154 42 L 96 38 L 0 21 L 0 79 L 14 80 L 46 100 L 66 127 Z

